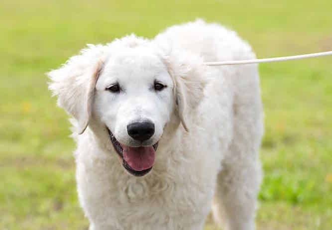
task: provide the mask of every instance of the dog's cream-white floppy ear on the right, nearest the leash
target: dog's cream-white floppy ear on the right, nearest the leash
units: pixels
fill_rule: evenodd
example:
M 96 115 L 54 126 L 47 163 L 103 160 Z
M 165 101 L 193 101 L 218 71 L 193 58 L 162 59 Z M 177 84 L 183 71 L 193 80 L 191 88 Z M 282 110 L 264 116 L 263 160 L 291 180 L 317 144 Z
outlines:
M 199 105 L 207 83 L 203 61 L 192 55 L 175 54 L 166 59 L 168 72 L 174 82 L 177 113 L 186 131 L 189 131 L 186 117 Z

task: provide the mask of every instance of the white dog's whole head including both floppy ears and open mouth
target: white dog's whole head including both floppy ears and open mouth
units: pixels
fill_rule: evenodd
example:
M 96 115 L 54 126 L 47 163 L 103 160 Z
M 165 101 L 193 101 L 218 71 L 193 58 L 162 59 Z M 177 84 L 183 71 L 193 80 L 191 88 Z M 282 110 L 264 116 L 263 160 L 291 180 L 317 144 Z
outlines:
M 202 60 L 172 50 L 131 35 L 90 45 L 48 73 L 58 105 L 78 121 L 77 132 L 89 126 L 135 176 L 151 170 L 170 123 L 188 131 L 186 118 L 203 97 Z

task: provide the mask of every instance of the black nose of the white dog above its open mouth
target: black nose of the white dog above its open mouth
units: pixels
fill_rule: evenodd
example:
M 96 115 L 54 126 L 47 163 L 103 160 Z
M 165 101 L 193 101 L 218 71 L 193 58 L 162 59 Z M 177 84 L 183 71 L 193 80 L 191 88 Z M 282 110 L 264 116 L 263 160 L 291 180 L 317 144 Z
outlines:
M 153 135 L 154 123 L 150 121 L 133 122 L 127 125 L 127 132 L 135 140 L 144 141 Z

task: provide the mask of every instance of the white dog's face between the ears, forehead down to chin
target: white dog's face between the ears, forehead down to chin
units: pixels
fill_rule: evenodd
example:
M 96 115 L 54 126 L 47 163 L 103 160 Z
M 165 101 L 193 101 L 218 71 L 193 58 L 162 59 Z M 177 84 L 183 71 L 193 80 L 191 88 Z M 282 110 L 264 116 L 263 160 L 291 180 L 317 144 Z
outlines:
M 149 172 L 165 125 L 174 112 L 174 83 L 160 57 L 130 50 L 105 61 L 93 113 L 105 124 L 123 166 Z

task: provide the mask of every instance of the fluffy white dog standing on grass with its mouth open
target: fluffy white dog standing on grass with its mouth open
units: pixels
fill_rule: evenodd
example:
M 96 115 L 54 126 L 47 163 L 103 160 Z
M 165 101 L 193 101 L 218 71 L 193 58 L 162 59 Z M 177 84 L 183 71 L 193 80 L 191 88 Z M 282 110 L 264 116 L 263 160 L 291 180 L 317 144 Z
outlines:
M 89 45 L 48 73 L 74 118 L 90 230 L 253 230 L 263 133 L 257 65 L 235 32 L 202 20 L 154 39 Z

